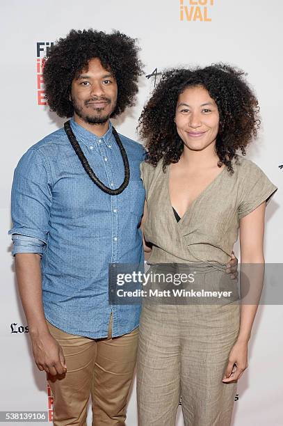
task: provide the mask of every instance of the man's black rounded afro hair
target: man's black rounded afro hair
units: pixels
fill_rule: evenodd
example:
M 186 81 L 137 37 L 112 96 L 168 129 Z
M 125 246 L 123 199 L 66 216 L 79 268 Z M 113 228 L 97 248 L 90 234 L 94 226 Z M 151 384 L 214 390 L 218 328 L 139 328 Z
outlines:
M 118 85 L 118 98 L 111 117 L 118 116 L 126 107 L 132 107 L 138 93 L 138 77 L 143 74 L 143 64 L 138 60 L 136 39 L 119 31 L 106 34 L 92 29 L 72 29 L 66 38 L 60 38 L 49 49 L 43 78 L 45 97 L 51 111 L 60 117 L 72 117 L 70 101 L 73 79 L 92 58 L 99 58 L 102 66 L 113 73 Z

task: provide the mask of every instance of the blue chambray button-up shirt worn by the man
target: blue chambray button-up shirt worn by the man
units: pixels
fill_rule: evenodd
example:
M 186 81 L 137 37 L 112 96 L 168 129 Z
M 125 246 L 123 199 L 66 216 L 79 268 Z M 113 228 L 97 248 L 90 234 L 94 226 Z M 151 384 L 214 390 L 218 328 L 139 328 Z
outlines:
M 71 120 L 90 167 L 108 187 L 124 180 L 124 165 L 112 125 L 97 137 Z M 13 255 L 42 255 L 45 317 L 59 329 L 105 338 L 138 326 L 140 305 L 108 303 L 108 265 L 143 265 L 145 189 L 140 179 L 143 147 L 120 135 L 130 165 L 127 189 L 110 196 L 90 180 L 64 129 L 33 145 L 19 160 L 12 188 Z

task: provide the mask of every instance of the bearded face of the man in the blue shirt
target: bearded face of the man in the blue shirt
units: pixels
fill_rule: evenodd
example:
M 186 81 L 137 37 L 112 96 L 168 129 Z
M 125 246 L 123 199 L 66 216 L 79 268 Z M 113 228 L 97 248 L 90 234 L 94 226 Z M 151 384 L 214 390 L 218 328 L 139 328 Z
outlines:
M 74 115 L 85 123 L 106 123 L 117 102 L 118 87 L 111 71 L 105 70 L 99 58 L 92 58 L 88 69 L 72 81 L 70 99 Z

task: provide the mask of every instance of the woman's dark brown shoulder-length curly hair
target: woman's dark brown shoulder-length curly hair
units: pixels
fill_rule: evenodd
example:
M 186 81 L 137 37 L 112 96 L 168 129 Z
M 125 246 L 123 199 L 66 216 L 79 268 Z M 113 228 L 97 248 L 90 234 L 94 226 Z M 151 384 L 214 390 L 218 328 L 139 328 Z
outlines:
M 186 88 L 202 86 L 218 107 L 218 166 L 225 164 L 233 173 L 231 161 L 237 159 L 236 150 L 245 155 L 245 147 L 257 136 L 260 124 L 258 102 L 244 75 L 242 70 L 223 63 L 164 72 L 139 119 L 140 136 L 148 151 L 146 161 L 156 166 L 163 159 L 163 171 L 168 164 L 179 161 L 184 143 L 175 125 L 177 100 Z

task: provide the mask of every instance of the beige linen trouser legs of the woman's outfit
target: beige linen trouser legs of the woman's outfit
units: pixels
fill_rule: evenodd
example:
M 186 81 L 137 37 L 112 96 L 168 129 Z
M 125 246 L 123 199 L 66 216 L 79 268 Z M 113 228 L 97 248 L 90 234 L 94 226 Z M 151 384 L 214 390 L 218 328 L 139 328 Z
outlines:
M 174 426 L 179 398 L 186 426 L 229 426 L 236 383 L 224 384 L 240 310 L 143 306 L 137 362 L 139 426 Z

